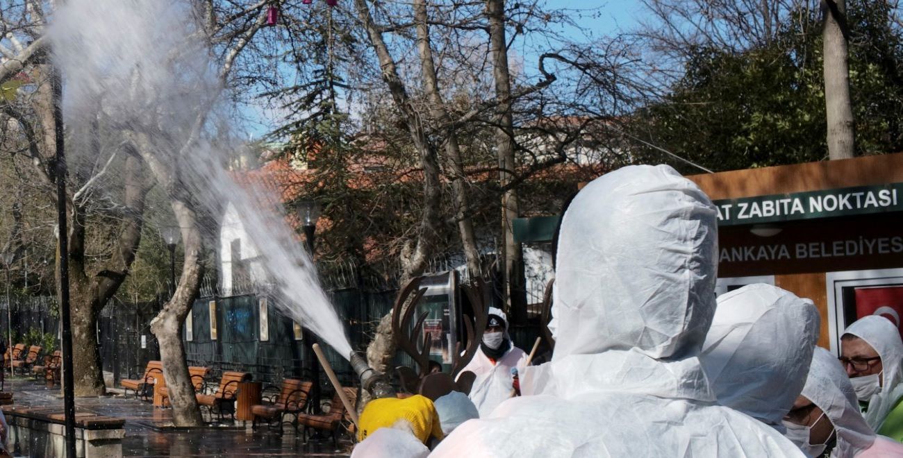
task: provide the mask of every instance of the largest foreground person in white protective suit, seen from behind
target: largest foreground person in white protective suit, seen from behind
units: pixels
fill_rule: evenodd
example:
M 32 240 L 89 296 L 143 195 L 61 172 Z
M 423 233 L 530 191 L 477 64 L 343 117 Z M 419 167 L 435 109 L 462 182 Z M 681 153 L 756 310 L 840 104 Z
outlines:
M 675 169 L 591 181 L 563 215 L 552 361 L 524 396 L 465 422 L 431 456 L 803 456 L 719 406 L 697 355 L 715 308 L 717 213 Z

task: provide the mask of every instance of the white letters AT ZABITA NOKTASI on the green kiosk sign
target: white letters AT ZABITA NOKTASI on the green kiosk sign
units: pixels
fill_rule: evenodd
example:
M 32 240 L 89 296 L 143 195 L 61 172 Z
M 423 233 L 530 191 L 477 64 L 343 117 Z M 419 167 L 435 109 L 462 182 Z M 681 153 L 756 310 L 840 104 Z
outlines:
M 861 188 L 860 188 L 861 189 Z M 719 221 L 742 221 L 745 219 L 774 218 L 795 219 L 810 214 L 832 212 L 881 211 L 899 206 L 897 188 L 839 191 L 824 196 L 807 197 L 757 197 L 745 201 L 721 201 L 718 209 Z M 903 209 L 903 208 L 900 208 Z M 827 215 L 824 215 L 827 216 Z

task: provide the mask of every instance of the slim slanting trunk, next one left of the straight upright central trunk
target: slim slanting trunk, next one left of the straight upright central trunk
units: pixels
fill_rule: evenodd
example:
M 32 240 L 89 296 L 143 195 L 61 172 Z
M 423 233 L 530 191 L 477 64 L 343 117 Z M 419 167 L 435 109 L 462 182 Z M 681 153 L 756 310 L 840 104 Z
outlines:
M 433 61 L 433 48 L 430 44 L 430 30 L 427 24 L 426 0 L 414 1 L 414 21 L 417 23 L 417 48 L 420 51 L 420 69 L 424 78 L 424 91 L 430 99 L 430 115 L 441 124 L 450 127 L 445 132 L 445 154 L 452 172 L 452 190 L 455 200 L 455 221 L 461 235 L 461 248 L 467 258 L 467 269 L 471 275 L 479 276 L 479 250 L 477 237 L 470 219 L 470 199 L 467 196 L 467 176 L 464 173 L 461 148 L 458 134 L 452 127 L 452 117 L 445 109 L 445 102 L 439 90 L 439 78 Z

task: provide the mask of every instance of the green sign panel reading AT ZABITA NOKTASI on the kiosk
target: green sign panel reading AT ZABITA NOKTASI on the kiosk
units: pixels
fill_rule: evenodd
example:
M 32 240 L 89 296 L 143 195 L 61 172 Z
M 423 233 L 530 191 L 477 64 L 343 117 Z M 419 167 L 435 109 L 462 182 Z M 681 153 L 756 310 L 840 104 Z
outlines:
M 903 183 L 715 200 L 719 225 L 903 211 Z

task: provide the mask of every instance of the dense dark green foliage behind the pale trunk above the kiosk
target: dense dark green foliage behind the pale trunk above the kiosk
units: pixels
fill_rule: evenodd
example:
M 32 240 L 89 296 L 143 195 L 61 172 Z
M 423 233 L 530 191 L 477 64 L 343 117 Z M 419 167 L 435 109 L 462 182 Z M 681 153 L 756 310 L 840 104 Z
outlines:
M 883 2 L 847 2 L 857 154 L 903 150 L 901 36 Z M 791 12 L 773 41 L 735 52 L 690 50 L 684 77 L 638 113 L 638 136 L 709 169 L 823 160 L 821 17 Z M 643 151 L 650 161 L 659 153 Z M 698 169 L 688 169 L 698 172 Z

